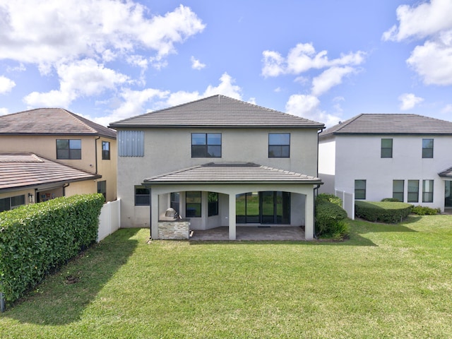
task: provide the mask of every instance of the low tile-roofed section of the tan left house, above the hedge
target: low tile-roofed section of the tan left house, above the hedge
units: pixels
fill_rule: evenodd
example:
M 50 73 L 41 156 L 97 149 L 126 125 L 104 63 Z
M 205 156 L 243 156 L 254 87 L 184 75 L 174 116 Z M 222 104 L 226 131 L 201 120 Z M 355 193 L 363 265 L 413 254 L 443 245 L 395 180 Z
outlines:
M 100 178 L 34 153 L 0 152 L 0 212 L 64 196 L 69 185 L 83 191 Z

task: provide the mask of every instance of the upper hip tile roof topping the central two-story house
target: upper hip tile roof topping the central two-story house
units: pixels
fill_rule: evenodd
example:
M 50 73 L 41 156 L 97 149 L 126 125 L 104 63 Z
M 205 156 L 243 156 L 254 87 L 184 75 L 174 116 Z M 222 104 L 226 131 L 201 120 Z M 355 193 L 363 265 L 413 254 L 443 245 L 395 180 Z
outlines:
M 131 127 L 291 127 L 322 129 L 323 124 L 240 100 L 213 95 L 183 105 L 160 109 L 109 125 Z

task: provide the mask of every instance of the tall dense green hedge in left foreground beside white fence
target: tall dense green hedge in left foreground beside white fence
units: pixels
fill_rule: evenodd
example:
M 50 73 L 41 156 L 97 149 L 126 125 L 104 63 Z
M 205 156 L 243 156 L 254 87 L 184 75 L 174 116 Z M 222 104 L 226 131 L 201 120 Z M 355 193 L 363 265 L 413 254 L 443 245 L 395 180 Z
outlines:
M 95 242 L 102 194 L 56 198 L 0 213 L 0 292 L 13 302 Z

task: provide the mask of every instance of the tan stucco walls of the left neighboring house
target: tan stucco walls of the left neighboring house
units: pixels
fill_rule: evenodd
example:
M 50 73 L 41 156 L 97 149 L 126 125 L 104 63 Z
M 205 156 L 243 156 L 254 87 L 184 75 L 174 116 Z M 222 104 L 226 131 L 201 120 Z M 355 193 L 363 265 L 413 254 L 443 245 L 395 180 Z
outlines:
M 81 139 L 82 158 L 81 160 L 57 159 L 57 139 Z M 107 181 L 107 201 L 114 201 L 117 198 L 117 141 L 114 138 L 99 136 L 6 136 L 0 138 L 0 151 L 32 152 L 49 160 L 83 169 L 86 172 L 96 173 L 97 154 L 97 174 L 102 175 L 102 179 Z M 110 143 L 110 160 L 102 160 L 102 141 Z M 97 153 L 96 153 L 97 148 Z M 72 183 L 66 196 L 73 194 L 96 193 L 97 184 L 90 180 L 90 184 Z M 71 186 L 70 185 L 70 186 Z M 84 191 L 86 189 L 86 191 Z M 72 193 L 76 192 L 76 193 Z

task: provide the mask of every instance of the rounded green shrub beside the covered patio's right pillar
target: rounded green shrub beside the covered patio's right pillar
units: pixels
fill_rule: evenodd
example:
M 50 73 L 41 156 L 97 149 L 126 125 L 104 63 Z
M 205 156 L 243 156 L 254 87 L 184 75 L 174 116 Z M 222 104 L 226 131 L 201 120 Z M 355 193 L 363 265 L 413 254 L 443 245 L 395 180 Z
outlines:
M 319 237 L 343 239 L 349 233 L 346 218 L 347 212 L 336 203 L 324 197 L 316 199 L 316 234 Z

